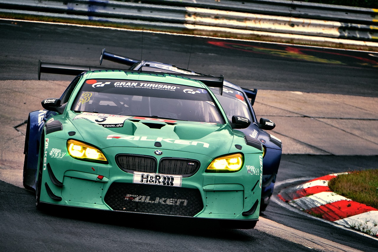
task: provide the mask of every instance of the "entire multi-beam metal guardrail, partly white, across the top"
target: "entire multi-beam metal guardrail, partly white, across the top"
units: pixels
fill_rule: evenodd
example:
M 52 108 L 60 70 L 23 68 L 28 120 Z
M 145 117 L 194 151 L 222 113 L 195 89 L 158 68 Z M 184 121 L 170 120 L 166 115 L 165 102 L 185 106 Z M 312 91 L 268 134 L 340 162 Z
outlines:
M 0 12 L 60 19 L 111 22 L 132 27 L 144 27 L 146 29 L 197 30 L 236 34 L 254 34 L 254 31 L 265 31 L 276 34 L 302 34 L 378 41 L 378 26 L 360 23 L 341 23 L 332 21 L 332 18 L 328 18 L 327 20 L 314 18 L 325 18 L 328 13 L 326 10 L 332 12 L 337 9 L 333 5 L 298 3 L 287 0 L 249 0 L 246 2 L 234 0 L 221 0 L 222 2 L 196 0 L 197 3 L 195 4 L 189 2 L 189 0 L 148 0 L 146 3 L 143 3 L 144 0 L 141 1 L 133 3 L 112 0 L 0 0 Z M 162 3 L 170 5 L 161 5 Z M 218 6 L 218 3 L 222 3 L 223 7 Z M 231 3 L 234 3 L 234 5 L 231 5 Z M 237 3 L 244 3 L 246 6 L 252 6 L 257 3 L 259 4 L 258 6 L 264 5 L 265 7 L 260 8 L 260 11 L 265 11 L 264 13 L 269 12 L 270 14 L 283 14 L 283 12 L 288 14 L 289 12 L 287 11 L 289 10 L 287 8 L 294 5 L 307 8 L 311 11 L 304 13 L 296 9 L 298 13 L 300 12 L 301 17 L 250 13 L 258 12 L 256 11 L 256 9 L 259 9 L 256 7 L 257 5 L 254 8 L 245 8 L 245 12 L 230 11 L 231 9 L 240 9 Z M 197 7 L 207 6 L 212 9 L 181 6 L 189 4 L 196 5 Z M 271 8 L 268 8 L 268 6 L 271 6 Z M 217 9 L 214 9 L 215 7 Z M 378 21 L 370 20 L 368 22 L 368 16 L 371 17 L 372 13 L 376 13 L 372 11 L 373 9 L 351 8 L 347 6 L 338 7 L 338 11 L 333 12 L 333 16 L 337 16 L 342 10 L 342 12 L 348 15 L 352 13 L 353 20 L 355 21 L 359 20 L 365 23 L 375 23 Z M 227 8 L 228 10 L 222 10 L 222 8 Z M 321 10 L 322 8 L 323 10 Z M 247 9 L 248 12 L 246 12 Z M 268 11 L 268 9 L 270 10 Z M 278 9 L 281 9 L 281 11 L 279 12 Z M 350 12 L 347 13 L 347 10 Z M 353 10 L 355 12 L 352 12 Z M 316 14 L 318 12 L 321 12 L 322 15 Z M 305 19 L 302 17 L 306 15 L 313 18 Z M 352 20 L 352 16 L 348 16 L 348 18 Z

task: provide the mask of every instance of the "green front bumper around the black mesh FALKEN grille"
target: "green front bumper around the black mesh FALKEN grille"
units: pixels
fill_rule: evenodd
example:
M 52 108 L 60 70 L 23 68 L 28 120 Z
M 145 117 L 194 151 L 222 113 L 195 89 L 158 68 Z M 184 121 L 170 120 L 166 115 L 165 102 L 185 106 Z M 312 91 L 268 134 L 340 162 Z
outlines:
M 50 148 L 63 153 L 65 141 L 55 139 Z M 47 155 L 43 162 L 40 201 L 73 207 L 133 213 L 190 216 L 229 220 L 259 218 L 262 169 L 261 154 L 245 154 L 242 170 L 236 173 L 205 173 L 211 158 L 203 154 L 163 150 L 164 156 L 195 159 L 199 170 L 181 179 L 181 186 L 135 184 L 134 174 L 116 164 L 119 153 L 146 155 L 156 149 L 105 148 L 108 164 L 73 159 L 68 153 Z M 45 150 L 46 151 L 46 150 Z M 47 153 L 49 151 L 47 150 Z M 254 166 L 254 172 L 246 166 Z M 49 171 L 50 170 L 50 171 Z

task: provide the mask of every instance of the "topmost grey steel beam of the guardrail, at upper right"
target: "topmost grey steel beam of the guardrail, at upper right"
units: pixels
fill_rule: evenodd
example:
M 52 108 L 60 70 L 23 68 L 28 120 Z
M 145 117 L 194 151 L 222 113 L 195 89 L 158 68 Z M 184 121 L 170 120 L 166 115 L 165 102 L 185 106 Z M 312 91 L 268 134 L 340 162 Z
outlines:
M 370 9 L 288 0 L 139 0 L 139 2 L 365 25 L 378 23 L 378 3 L 377 9 Z

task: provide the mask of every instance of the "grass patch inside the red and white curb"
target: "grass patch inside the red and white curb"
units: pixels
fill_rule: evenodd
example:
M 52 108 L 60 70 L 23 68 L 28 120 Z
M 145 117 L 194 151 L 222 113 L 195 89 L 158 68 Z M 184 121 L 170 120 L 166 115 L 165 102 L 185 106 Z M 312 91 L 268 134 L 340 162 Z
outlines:
M 341 174 L 328 182 L 331 191 L 378 209 L 378 169 Z

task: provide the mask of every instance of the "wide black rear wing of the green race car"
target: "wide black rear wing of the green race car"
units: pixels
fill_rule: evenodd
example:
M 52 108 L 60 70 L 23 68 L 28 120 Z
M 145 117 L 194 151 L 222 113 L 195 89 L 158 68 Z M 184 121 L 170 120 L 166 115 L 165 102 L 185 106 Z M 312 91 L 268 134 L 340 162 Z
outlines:
M 70 65 L 70 64 L 57 64 L 57 63 L 47 63 L 39 60 L 38 64 L 38 79 L 41 77 L 41 73 L 54 73 L 60 75 L 74 75 L 77 76 L 83 72 L 95 71 L 95 70 L 121 70 L 131 73 L 150 73 L 153 75 L 171 75 L 171 76 L 181 76 L 189 79 L 194 79 L 203 82 L 209 87 L 223 88 L 223 75 L 219 77 L 210 75 L 186 75 L 181 73 L 164 73 L 164 72 L 150 72 L 150 71 L 136 71 L 128 69 L 118 69 L 118 68 L 106 68 L 106 67 L 90 67 L 84 65 Z

